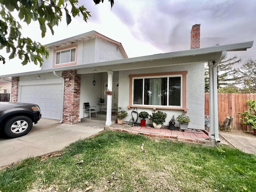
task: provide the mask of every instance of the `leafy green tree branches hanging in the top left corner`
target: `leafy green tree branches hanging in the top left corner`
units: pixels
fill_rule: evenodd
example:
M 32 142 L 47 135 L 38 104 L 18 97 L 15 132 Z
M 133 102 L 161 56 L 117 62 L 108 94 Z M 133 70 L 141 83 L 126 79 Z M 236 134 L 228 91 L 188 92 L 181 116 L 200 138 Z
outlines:
M 114 0 L 109 2 L 112 7 Z M 100 0 L 94 0 L 94 3 L 99 4 Z M 58 26 L 62 20 L 62 12 L 65 13 L 67 25 L 70 24 L 72 17 L 81 15 L 87 22 L 91 16 L 84 5 L 78 5 L 78 0 L 0 0 L 0 50 L 5 48 L 9 59 L 18 56 L 23 60 L 22 65 L 34 62 L 42 66 L 43 56 L 47 59 L 49 52 L 39 42 L 22 37 L 22 27 L 12 16 L 14 11 L 17 11 L 20 20 L 28 25 L 31 21 L 38 21 L 42 38 L 47 28 L 52 35 L 54 34 L 53 27 Z M 6 62 L 4 56 L 0 55 L 0 61 L 3 64 Z

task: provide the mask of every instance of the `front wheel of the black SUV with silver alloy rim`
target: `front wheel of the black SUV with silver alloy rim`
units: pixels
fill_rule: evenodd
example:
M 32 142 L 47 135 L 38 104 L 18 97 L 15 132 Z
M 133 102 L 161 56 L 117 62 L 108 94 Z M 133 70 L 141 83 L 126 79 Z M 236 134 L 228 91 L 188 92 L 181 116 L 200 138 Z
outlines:
M 16 116 L 6 121 L 4 133 L 10 138 L 26 135 L 32 129 L 33 122 L 26 116 Z

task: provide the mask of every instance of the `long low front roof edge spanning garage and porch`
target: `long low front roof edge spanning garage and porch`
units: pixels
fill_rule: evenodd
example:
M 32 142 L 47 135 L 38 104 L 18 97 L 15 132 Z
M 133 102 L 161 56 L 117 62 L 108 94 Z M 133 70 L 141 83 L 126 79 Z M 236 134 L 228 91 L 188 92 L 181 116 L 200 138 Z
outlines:
M 53 68 L 48 70 L 37 70 L 37 71 L 31 71 L 31 72 L 24 72 L 19 74 L 9 74 L 9 75 L 3 75 L 1 77 L 15 77 L 15 76 L 25 76 L 25 75 L 32 75 L 32 74 L 41 74 L 41 73 L 48 73 L 48 72 L 54 72 L 54 71 L 64 71 L 64 70 L 78 70 L 78 69 L 86 69 L 86 68 L 94 68 L 94 67 L 101 67 L 101 66 L 111 66 L 111 65 L 125 65 L 129 66 L 128 64 L 137 64 L 138 62 L 152 62 L 155 60 L 164 60 L 168 59 L 169 62 L 172 60 L 173 62 L 177 62 L 179 60 L 185 59 L 186 61 L 190 62 L 208 62 L 209 60 L 216 60 L 219 58 L 219 55 L 223 51 L 245 51 L 248 48 L 251 48 L 253 45 L 253 41 L 249 42 L 241 42 L 236 44 L 228 44 L 228 45 L 221 45 L 221 46 L 213 46 L 208 48 L 197 48 L 197 49 L 191 49 L 191 50 L 184 50 L 184 51 L 178 51 L 178 52 L 170 52 L 170 53 L 164 53 L 164 54 L 154 54 L 149 56 L 141 56 L 141 57 L 135 57 L 135 58 L 126 58 L 126 59 L 120 59 L 120 60 L 112 60 L 112 61 L 104 61 L 104 62 L 98 62 L 98 63 L 90 63 L 90 64 L 84 64 L 84 65 L 76 65 L 76 66 L 66 66 L 66 67 L 59 67 L 59 68 Z M 218 53 L 218 54 L 216 54 Z M 199 58 L 201 58 L 199 60 Z M 182 61 L 185 63 L 185 60 Z M 178 62 L 181 63 L 181 62 Z M 147 66 L 145 66 L 146 68 Z M 156 66 L 154 66 L 156 67 Z M 118 68 L 116 68 L 118 70 Z

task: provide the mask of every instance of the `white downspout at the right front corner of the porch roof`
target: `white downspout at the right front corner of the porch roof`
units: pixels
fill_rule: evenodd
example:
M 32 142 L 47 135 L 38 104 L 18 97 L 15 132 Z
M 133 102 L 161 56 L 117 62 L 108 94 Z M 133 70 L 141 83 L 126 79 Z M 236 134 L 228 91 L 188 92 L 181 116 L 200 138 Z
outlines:
M 217 90 L 217 66 L 225 58 L 226 51 L 222 51 L 217 61 L 209 62 L 209 85 L 210 85 L 210 138 L 220 142 L 218 126 L 218 90 Z M 214 136 L 214 138 L 213 138 Z

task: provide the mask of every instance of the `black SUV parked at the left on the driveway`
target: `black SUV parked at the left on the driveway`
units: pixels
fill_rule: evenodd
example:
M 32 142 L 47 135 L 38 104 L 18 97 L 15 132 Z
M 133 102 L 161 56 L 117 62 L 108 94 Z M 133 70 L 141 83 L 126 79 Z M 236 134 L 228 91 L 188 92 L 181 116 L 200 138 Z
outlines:
M 41 116 L 36 104 L 0 102 L 0 129 L 10 138 L 26 135 Z

